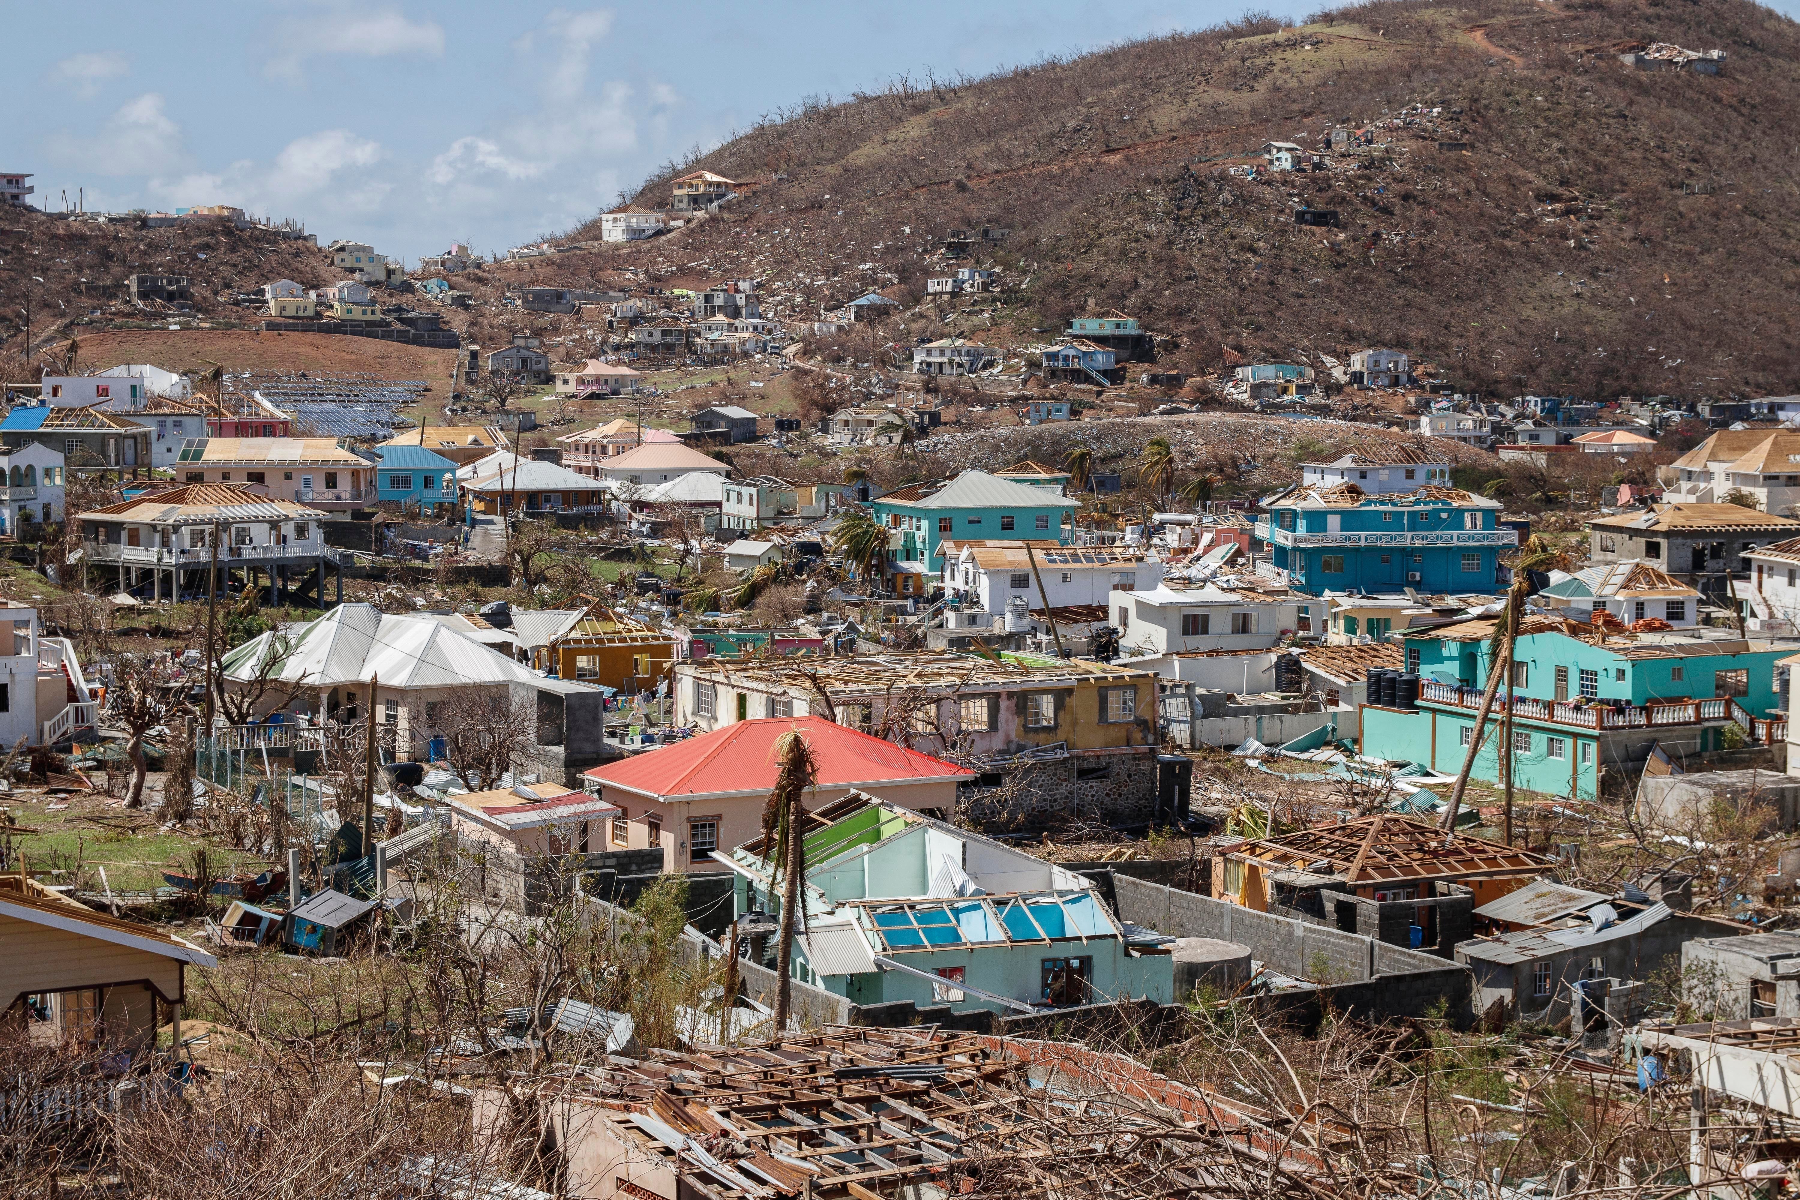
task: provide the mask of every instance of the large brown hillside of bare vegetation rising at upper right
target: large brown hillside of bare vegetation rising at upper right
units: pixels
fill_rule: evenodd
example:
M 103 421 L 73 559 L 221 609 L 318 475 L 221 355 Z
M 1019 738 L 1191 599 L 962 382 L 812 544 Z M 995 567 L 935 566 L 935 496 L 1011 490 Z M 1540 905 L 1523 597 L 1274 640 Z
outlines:
M 1622 41 L 1728 59 L 1642 72 Z M 922 290 L 927 234 L 999 225 L 1021 331 L 1121 308 L 1188 369 L 1397 345 L 1501 396 L 1784 392 L 1796 85 L 1800 27 L 1742 0 L 1368 4 L 806 104 L 635 198 L 666 205 L 677 169 L 761 182 L 718 218 L 556 264 L 760 275 L 799 313 Z M 1415 104 L 1440 112 L 1379 128 L 1363 169 L 1226 173 Z M 1341 228 L 1296 227 L 1301 203 Z

